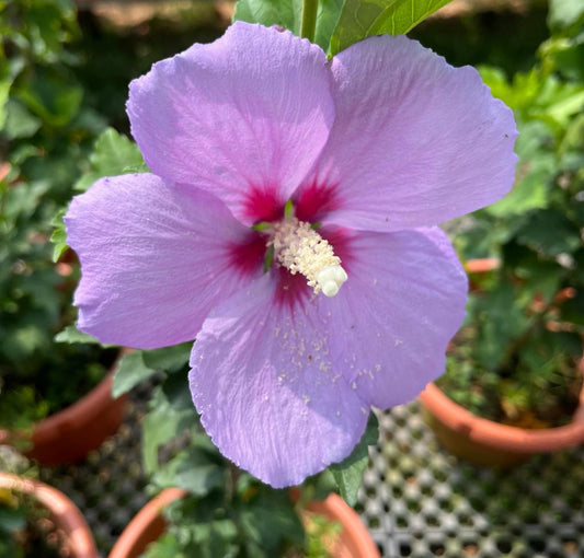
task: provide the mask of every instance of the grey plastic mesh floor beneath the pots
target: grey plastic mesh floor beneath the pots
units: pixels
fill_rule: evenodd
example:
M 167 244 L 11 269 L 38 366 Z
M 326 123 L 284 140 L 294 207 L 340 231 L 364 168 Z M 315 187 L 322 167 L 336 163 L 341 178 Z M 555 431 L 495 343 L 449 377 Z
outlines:
M 117 434 L 84 463 L 41 472 L 84 512 L 102 557 L 148 500 L 139 430 L 146 400 L 138 390 Z M 584 447 L 501 473 L 440 450 L 416 403 L 379 419 L 357 511 L 383 557 L 584 556 Z

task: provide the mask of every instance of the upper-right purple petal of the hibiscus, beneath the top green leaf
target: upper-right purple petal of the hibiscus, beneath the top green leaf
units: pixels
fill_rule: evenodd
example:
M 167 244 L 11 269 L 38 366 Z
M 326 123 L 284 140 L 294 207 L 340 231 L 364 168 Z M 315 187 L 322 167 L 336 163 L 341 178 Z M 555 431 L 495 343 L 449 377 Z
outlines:
M 339 54 L 332 74 L 335 124 L 314 179 L 297 194 L 328 193 L 327 222 L 373 231 L 434 225 L 509 190 L 513 113 L 473 68 L 383 35 Z

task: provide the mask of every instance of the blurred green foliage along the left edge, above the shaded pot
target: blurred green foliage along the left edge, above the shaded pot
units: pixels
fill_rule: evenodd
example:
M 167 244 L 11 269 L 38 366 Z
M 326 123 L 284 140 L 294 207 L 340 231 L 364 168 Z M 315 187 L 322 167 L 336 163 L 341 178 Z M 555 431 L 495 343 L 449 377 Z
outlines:
M 77 400 L 115 351 L 57 345 L 75 319 L 71 254 L 57 266 L 51 220 L 105 120 L 84 100 L 68 0 L 0 2 L 0 428 L 30 427 Z

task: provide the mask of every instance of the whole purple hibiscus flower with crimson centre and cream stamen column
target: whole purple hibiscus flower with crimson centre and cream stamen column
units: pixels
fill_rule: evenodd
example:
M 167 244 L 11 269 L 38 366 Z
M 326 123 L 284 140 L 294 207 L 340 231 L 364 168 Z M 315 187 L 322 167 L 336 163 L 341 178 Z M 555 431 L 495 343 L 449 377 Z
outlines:
M 341 461 L 371 406 L 444 370 L 467 280 L 436 224 L 509 189 L 512 112 L 406 37 L 328 61 L 245 23 L 156 63 L 127 108 L 153 174 L 71 202 L 80 329 L 139 348 L 196 337 L 203 425 L 264 481 Z

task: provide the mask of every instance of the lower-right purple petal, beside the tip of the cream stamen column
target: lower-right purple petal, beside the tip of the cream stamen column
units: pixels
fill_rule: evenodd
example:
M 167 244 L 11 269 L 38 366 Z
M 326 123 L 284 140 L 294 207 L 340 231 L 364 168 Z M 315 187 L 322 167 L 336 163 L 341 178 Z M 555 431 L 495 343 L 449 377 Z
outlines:
M 444 372 L 446 346 L 465 317 L 467 277 L 437 228 L 359 232 L 345 243 L 337 252 L 348 280 L 320 304 L 336 324 L 330 350 L 367 405 L 400 405 Z

